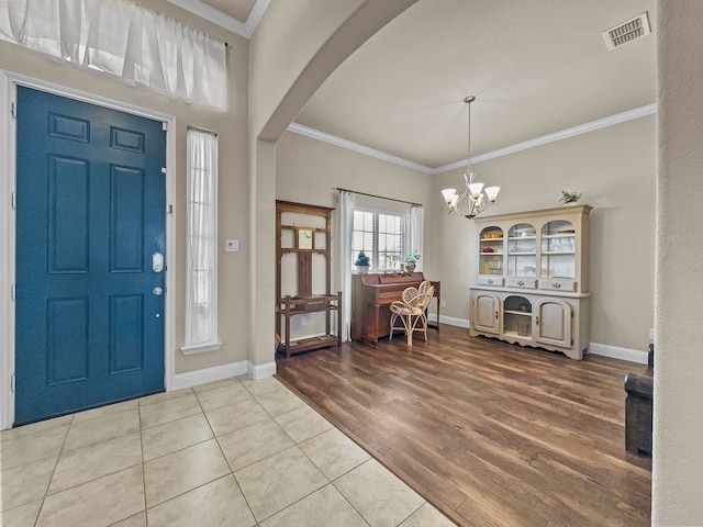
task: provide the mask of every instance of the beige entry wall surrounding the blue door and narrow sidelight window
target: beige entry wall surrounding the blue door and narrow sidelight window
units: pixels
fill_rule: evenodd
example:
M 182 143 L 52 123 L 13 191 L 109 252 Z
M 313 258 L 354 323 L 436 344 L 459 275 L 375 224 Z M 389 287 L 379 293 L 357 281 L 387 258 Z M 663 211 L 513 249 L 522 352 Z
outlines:
M 237 288 L 233 284 L 248 273 L 248 264 L 245 257 L 248 247 L 248 42 L 175 8 L 166 0 L 148 0 L 143 1 L 142 4 L 176 16 L 230 44 L 227 51 L 230 109 L 227 112 L 216 112 L 204 106 L 186 104 L 143 87 L 133 88 L 115 77 L 51 60 L 38 53 L 5 42 L 0 42 L 0 68 L 113 101 L 175 115 L 176 130 L 170 133 L 176 134 L 176 166 L 171 171 L 176 189 L 174 203 L 176 229 L 174 239 L 168 242 L 175 246 L 176 261 L 168 262 L 168 270 L 175 273 L 176 289 L 168 291 L 168 294 L 175 296 L 176 310 L 175 346 L 168 352 L 174 355 L 176 372 L 179 373 L 247 359 L 247 343 L 243 335 L 246 335 L 248 310 L 246 303 L 242 302 Z M 223 346 L 215 352 L 186 357 L 179 348 L 183 343 L 185 335 L 186 132 L 189 126 L 217 133 L 221 145 L 219 166 L 221 198 L 217 228 L 220 235 L 220 338 Z M 224 238 L 239 238 L 239 253 L 224 253 Z

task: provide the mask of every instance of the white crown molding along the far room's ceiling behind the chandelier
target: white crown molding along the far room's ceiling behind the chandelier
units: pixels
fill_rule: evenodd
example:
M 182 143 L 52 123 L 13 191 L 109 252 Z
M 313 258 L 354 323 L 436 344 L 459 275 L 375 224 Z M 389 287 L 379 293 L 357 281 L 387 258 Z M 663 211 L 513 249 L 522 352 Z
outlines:
M 590 123 L 572 126 L 570 128 L 566 128 L 560 132 L 555 132 L 554 134 L 543 135 L 540 137 L 524 141 L 522 143 L 516 143 L 514 145 L 506 146 L 504 148 L 487 152 L 486 154 L 471 157 L 471 162 L 488 161 L 489 159 L 495 159 L 496 157 L 509 156 L 511 154 L 515 154 L 521 150 L 526 150 L 528 148 L 534 148 L 536 146 L 542 146 L 549 143 L 554 143 L 556 141 L 566 139 L 568 137 L 573 137 L 576 135 L 587 134 L 595 130 L 605 128 L 607 126 L 625 123 L 627 121 L 633 121 L 639 117 L 645 117 L 647 115 L 651 115 L 655 113 L 657 113 L 657 104 L 656 103 L 647 104 L 645 106 L 635 108 L 634 110 L 628 110 L 626 112 L 616 113 L 607 117 L 591 121 Z M 305 135 L 308 137 L 312 137 L 313 139 L 323 141 L 325 143 L 330 143 L 332 145 L 346 148 L 348 150 L 364 154 L 365 156 L 375 157 L 383 161 L 394 162 L 395 165 L 401 165 L 403 167 L 412 168 L 414 170 L 417 170 L 420 172 L 424 172 L 431 176 L 444 173 L 448 170 L 455 170 L 457 168 L 464 168 L 467 165 L 466 159 L 461 159 L 459 161 L 450 162 L 448 165 L 443 165 L 442 167 L 429 168 L 424 165 L 420 165 L 419 162 L 410 161 L 402 157 L 393 156 L 391 154 L 387 154 L 384 152 L 377 150 L 375 148 L 370 148 L 368 146 L 354 143 L 352 141 L 343 139 L 342 137 L 337 137 L 335 135 L 320 132 L 319 130 L 303 126 L 301 124 L 291 123 L 287 130 L 295 134 Z

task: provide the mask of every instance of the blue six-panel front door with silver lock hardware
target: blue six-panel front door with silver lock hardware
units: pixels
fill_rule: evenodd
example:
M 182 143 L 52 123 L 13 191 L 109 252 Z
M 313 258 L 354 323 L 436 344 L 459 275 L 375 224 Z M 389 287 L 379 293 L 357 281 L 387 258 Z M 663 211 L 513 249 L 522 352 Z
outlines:
M 18 88 L 15 425 L 164 390 L 161 122 Z

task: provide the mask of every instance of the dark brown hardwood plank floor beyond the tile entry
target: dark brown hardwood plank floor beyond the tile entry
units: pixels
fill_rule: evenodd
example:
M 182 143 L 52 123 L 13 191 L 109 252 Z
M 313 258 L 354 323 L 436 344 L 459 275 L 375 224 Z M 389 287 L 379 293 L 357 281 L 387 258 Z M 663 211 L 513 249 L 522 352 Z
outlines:
M 279 359 L 277 377 L 458 525 L 649 525 L 651 460 L 625 451 L 640 365 L 427 338 Z

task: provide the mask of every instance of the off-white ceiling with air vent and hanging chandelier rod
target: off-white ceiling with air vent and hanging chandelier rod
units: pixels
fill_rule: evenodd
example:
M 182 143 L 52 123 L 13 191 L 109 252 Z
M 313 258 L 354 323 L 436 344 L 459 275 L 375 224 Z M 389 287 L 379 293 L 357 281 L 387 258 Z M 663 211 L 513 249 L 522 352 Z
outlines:
M 242 20 L 263 0 L 205 1 Z M 609 52 L 601 33 L 645 11 L 652 34 Z M 295 123 L 433 172 L 466 160 L 467 94 L 473 156 L 650 112 L 656 0 L 420 0 L 337 68 Z

